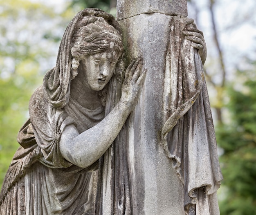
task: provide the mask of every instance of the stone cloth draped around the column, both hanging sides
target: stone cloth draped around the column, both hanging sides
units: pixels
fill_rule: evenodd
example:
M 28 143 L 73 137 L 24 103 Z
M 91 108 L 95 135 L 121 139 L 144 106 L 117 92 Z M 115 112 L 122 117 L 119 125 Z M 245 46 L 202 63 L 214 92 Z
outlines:
M 184 18 L 171 19 L 161 143 L 184 185 L 185 213 L 218 215 L 216 190 L 222 174 L 202 61 L 197 49 L 182 34 L 187 27 Z M 114 79 L 109 87 L 106 114 L 115 106 L 120 94 Z M 132 172 L 127 163 L 126 129 L 124 125 L 100 160 L 96 214 L 132 214 Z

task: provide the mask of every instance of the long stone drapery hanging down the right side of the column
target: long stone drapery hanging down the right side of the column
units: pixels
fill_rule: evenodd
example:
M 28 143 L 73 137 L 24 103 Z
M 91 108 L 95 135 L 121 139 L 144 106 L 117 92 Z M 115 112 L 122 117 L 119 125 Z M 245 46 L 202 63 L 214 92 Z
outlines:
M 170 27 L 162 143 L 184 184 L 186 214 L 217 215 L 222 174 L 202 61 L 182 35 L 187 27 L 184 19 L 173 17 Z

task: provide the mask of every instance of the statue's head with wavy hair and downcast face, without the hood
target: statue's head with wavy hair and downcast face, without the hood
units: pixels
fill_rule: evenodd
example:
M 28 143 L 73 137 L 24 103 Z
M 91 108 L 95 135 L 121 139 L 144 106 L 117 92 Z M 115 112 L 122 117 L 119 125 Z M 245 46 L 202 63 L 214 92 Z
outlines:
M 101 73 L 99 86 L 94 86 L 94 90 L 101 90 L 101 86 L 110 80 L 124 50 L 121 34 L 103 17 L 85 16 L 76 26 L 72 44 L 71 78 L 75 78 L 79 70 L 82 70 L 79 69 L 82 63 L 89 84 L 95 78 L 91 74 L 93 71 Z

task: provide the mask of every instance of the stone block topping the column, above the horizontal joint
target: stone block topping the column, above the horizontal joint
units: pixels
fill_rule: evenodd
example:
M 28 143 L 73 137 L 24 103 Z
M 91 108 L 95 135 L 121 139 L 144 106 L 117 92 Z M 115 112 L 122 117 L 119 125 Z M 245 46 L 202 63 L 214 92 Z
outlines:
M 142 13 L 163 13 L 186 17 L 186 0 L 118 0 L 117 20 L 123 20 Z

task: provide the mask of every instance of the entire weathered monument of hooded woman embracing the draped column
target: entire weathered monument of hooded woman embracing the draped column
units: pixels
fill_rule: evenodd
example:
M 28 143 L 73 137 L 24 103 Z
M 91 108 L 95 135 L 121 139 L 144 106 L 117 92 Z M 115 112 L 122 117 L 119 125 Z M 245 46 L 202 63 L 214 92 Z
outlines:
M 182 10 L 125 2 L 119 23 L 85 9 L 68 25 L 31 96 L 1 215 L 219 213 L 202 32 Z

